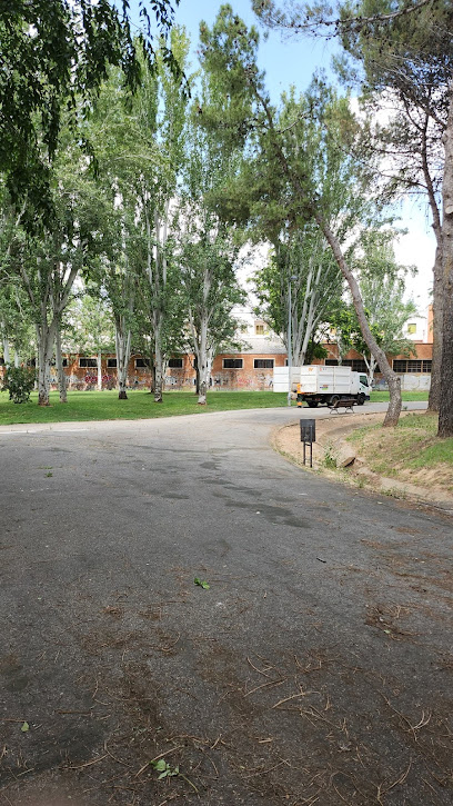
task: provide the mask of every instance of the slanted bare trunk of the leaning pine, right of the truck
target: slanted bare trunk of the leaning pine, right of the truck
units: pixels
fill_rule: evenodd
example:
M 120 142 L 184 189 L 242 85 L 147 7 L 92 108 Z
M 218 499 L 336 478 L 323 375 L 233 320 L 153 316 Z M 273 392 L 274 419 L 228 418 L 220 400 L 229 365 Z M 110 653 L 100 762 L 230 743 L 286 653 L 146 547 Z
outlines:
M 397 421 L 400 419 L 401 414 L 401 379 L 397 377 L 397 375 L 393 371 L 391 368 L 385 352 L 379 347 L 375 338 L 373 337 L 373 334 L 370 330 L 370 326 L 366 320 L 365 309 L 363 306 L 362 296 L 360 293 L 360 288 L 358 285 L 358 281 L 352 273 L 351 269 L 349 268 L 344 255 L 342 252 L 342 249 L 340 247 L 340 243 L 335 236 L 333 235 L 332 230 L 330 229 L 329 225 L 320 213 L 315 215 L 316 222 L 319 223 L 321 230 L 324 232 L 325 239 L 328 243 L 330 245 L 333 255 L 335 257 L 335 260 L 339 265 L 339 268 L 346 280 L 350 291 L 352 295 L 352 301 L 354 304 L 355 312 L 358 315 L 359 324 L 362 330 L 363 339 L 371 352 L 371 355 L 374 357 L 376 364 L 379 364 L 379 367 L 381 369 L 382 375 L 384 376 L 386 384 L 389 386 L 389 392 L 390 392 L 390 402 L 389 408 L 386 410 L 386 415 L 384 418 L 384 426 L 396 426 Z

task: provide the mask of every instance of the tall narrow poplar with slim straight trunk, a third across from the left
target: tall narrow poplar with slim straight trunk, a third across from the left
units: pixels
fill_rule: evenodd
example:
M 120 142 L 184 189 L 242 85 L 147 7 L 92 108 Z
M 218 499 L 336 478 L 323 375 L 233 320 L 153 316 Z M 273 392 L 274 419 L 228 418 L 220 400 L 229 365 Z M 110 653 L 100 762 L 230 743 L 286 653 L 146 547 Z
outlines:
M 184 67 L 189 42 L 173 29 L 171 47 Z M 101 88 L 88 131 L 95 137 L 100 181 L 114 210 L 115 248 L 99 272 L 112 309 L 117 345 L 154 355 L 157 399 L 165 359 L 182 349 L 184 317 L 175 259 L 174 199 L 184 163 L 188 98 L 164 58 L 143 60 L 131 98 L 118 70 Z M 144 341 L 147 342 L 144 345 Z

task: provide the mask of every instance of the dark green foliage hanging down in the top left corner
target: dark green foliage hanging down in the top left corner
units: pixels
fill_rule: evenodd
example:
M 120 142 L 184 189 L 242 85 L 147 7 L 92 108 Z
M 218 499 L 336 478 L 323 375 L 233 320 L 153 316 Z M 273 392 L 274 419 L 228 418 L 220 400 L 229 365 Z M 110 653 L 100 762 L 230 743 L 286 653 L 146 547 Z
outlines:
M 90 108 L 109 64 L 122 67 L 131 90 L 141 78 L 138 51 L 154 66 L 148 9 L 165 37 L 172 7 L 170 0 L 143 0 L 140 6 L 148 31 L 134 40 L 128 0 L 118 4 L 111 0 L 9 0 L 0 4 L 0 167 L 14 200 L 27 195 L 32 207 L 40 212 L 47 209 L 49 217 L 49 159 L 57 150 L 68 109 L 76 125 L 81 111 Z M 175 67 L 168 49 L 164 59 Z

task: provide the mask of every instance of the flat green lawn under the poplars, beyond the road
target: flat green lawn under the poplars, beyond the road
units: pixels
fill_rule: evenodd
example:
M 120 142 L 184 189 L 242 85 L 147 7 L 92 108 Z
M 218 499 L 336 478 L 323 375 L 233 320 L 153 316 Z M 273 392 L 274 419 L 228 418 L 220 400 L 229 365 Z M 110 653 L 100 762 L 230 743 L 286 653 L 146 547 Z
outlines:
M 386 395 L 386 397 L 385 397 Z M 417 397 L 413 397 L 416 395 Z M 422 395 L 422 396 L 421 396 Z M 423 397 L 424 395 L 424 397 Z M 411 396 L 411 397 L 407 397 Z M 58 392 L 51 392 L 51 406 L 37 405 L 38 395 L 32 394 L 28 404 L 12 404 L 8 394 L 0 395 L 0 425 L 18 422 L 77 422 L 83 420 L 137 420 L 175 415 L 201 415 L 205 411 L 231 409 L 279 408 L 286 406 L 285 392 L 273 391 L 212 391 L 208 405 L 199 406 L 197 396 L 190 391 L 168 391 L 162 404 L 154 404 L 152 395 L 143 390 L 131 390 L 128 400 L 119 400 L 118 391 L 69 391 L 68 402 L 60 404 Z M 387 392 L 373 392 L 372 401 L 387 400 Z M 404 400 L 426 400 L 424 392 L 406 392 Z M 295 404 L 294 408 L 295 408 Z

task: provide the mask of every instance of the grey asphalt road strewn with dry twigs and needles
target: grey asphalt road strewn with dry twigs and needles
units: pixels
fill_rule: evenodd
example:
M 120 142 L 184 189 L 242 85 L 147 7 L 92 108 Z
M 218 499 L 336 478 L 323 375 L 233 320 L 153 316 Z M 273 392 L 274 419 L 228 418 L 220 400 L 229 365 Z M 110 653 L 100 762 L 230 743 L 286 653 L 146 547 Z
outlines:
M 299 414 L 0 430 L 0 804 L 453 803 L 452 520 Z

